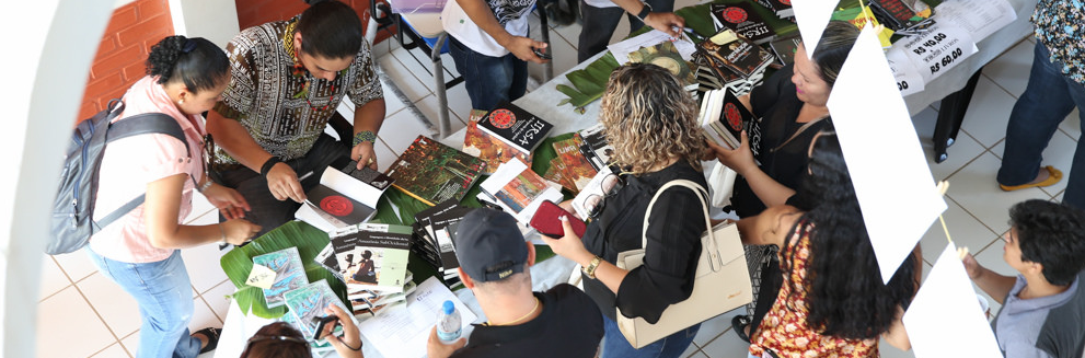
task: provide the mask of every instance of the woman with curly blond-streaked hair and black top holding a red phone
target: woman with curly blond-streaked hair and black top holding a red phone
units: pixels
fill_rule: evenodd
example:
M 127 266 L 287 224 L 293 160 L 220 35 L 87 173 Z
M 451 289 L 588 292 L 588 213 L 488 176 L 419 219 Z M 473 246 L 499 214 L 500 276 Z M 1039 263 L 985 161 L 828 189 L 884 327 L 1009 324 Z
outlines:
M 688 180 L 706 186 L 697 106 L 670 71 L 633 63 L 611 73 L 599 116 L 614 146 L 612 160 L 623 173 L 604 181 L 605 195 L 582 241 L 570 229 L 562 239 L 543 240 L 584 267 L 584 290 L 603 313 L 602 357 L 678 357 L 700 323 L 635 349 L 615 321 L 622 314 L 656 323 L 667 307 L 693 292 L 705 231 L 700 194 L 681 187 L 660 193 L 647 228 L 642 228 L 648 204 L 663 184 Z M 648 242 L 643 266 L 625 270 L 613 265 L 619 253 L 642 249 L 642 238 Z

